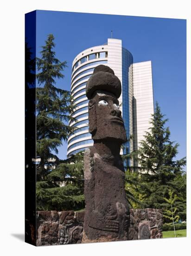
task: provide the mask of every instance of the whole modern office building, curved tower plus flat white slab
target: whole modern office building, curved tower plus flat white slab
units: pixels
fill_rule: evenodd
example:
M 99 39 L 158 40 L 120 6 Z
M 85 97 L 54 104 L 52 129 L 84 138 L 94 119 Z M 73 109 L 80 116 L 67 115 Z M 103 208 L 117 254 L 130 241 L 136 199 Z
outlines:
M 100 64 L 111 67 L 121 81 L 120 110 L 127 138 L 134 135 L 133 141 L 125 143 L 122 153 L 136 149 L 149 127 L 148 122 L 153 114 L 151 61 L 133 63 L 132 54 L 122 47 L 121 40 L 108 39 L 106 44 L 88 48 L 78 54 L 72 63 L 71 93 L 76 121 L 69 125 L 77 129 L 68 139 L 68 156 L 93 145 L 88 131 L 88 99 L 85 87 L 94 68 Z

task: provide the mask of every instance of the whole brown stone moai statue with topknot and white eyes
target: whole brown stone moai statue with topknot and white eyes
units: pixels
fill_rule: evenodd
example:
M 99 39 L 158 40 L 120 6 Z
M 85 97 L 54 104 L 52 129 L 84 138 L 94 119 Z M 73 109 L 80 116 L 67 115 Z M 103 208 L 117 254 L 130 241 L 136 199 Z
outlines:
M 89 132 L 94 145 L 84 154 L 85 216 L 82 243 L 128 240 L 129 206 L 120 156 L 127 141 L 117 100 L 121 82 L 104 65 L 95 68 L 86 85 Z

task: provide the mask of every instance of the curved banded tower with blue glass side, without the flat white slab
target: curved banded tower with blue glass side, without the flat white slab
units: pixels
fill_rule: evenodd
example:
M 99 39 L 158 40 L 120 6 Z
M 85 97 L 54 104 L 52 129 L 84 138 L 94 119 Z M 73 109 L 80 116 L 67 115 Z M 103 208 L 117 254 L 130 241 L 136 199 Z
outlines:
M 136 108 L 134 108 L 133 105 L 133 56 L 127 49 L 122 47 L 121 40 L 109 38 L 106 44 L 91 47 L 79 53 L 72 63 L 71 93 L 75 105 L 73 116 L 76 118 L 76 121 L 70 122 L 69 125 L 77 129 L 69 136 L 67 148 L 68 156 L 93 146 L 93 140 L 88 130 L 88 99 L 86 97 L 85 88 L 89 77 L 93 74 L 94 68 L 100 64 L 112 68 L 115 75 L 121 81 L 122 93 L 118 100 L 127 138 L 134 134 L 133 121 L 136 113 L 134 114 L 133 111 Z M 139 81 L 141 82 L 141 77 Z M 151 114 L 153 114 L 153 112 Z M 138 129 L 139 127 L 136 127 L 136 134 L 139 133 Z M 123 145 L 123 152 L 121 151 L 121 154 L 128 154 L 133 151 L 133 145 L 133 141 L 128 140 Z M 129 164 L 132 163 L 128 162 L 127 165 Z

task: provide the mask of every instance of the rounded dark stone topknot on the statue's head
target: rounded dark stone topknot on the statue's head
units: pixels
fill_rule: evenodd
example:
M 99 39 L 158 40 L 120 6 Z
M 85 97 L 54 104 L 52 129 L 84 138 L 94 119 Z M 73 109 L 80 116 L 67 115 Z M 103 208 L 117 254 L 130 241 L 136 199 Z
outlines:
M 121 81 L 115 75 L 113 69 L 105 65 L 95 67 L 93 75 L 86 84 L 86 96 L 89 100 L 96 90 L 111 92 L 117 98 L 120 97 Z

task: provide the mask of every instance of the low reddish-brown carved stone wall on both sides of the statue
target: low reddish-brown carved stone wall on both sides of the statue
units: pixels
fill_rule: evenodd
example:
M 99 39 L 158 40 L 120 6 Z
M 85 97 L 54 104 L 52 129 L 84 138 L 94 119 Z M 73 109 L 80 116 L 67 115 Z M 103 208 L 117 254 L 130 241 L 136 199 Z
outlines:
M 82 243 L 84 211 L 38 211 L 37 246 Z M 129 240 L 162 238 L 162 210 L 131 209 Z

